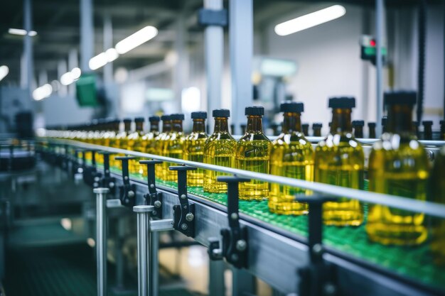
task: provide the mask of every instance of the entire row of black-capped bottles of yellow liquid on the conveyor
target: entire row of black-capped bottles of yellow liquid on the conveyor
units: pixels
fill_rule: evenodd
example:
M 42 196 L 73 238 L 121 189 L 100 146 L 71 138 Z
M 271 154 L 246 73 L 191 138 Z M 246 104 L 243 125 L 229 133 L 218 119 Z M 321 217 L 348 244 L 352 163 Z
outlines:
M 430 177 L 426 150 L 419 141 L 412 124 L 412 109 L 416 101 L 415 92 L 385 93 L 385 133 L 373 147 L 369 158 L 369 190 L 394 194 L 412 199 L 427 200 L 427 182 Z M 364 122 L 351 121 L 355 107 L 353 97 L 333 97 L 328 100 L 332 109 L 330 133 L 315 149 L 306 140 L 301 126 L 304 105 L 299 102 L 284 102 L 280 108 L 284 114 L 282 133 L 273 141 L 264 135 L 262 128 L 262 106 L 245 109 L 247 125 L 244 135 L 236 141 L 230 135 L 228 118 L 230 111 L 213 111 L 214 132 L 205 133 L 206 112 L 193 112 L 193 131 L 185 136 L 183 114 L 161 117 L 162 132 L 159 133 L 159 117 L 150 117 L 151 131 L 141 133 L 142 119 L 136 119 L 136 131 L 129 131 L 129 121 L 124 120 L 124 131 L 115 132 L 113 137 L 102 137 L 96 143 L 171 158 L 192 160 L 227 168 L 240 168 L 253 172 L 292 177 L 306 181 L 350 187 L 363 190 L 365 180 L 364 154 L 355 132 L 363 128 Z M 114 122 L 117 131 L 118 124 Z M 128 128 L 127 128 L 128 126 Z M 112 133 L 110 133 L 112 135 Z M 95 143 L 92 141 L 90 143 Z M 107 145 L 108 144 L 108 145 Z M 434 177 L 441 180 L 444 174 L 444 148 L 436 160 Z M 442 160 L 441 160 L 442 159 Z M 156 177 L 175 181 L 176 175 L 168 170 L 172 163 L 156 165 Z M 139 168 L 139 172 L 142 168 Z M 132 168 L 137 172 L 137 168 Z M 203 186 L 205 192 L 226 192 L 225 183 L 217 182 L 223 172 L 196 170 L 188 172 L 191 186 Z M 442 175 L 440 175 L 442 174 Z M 429 200 L 444 202 L 443 182 L 433 182 L 434 190 Z M 310 190 L 252 180 L 240 184 L 240 199 L 268 199 L 269 210 L 277 214 L 307 214 L 307 204 L 294 201 L 298 194 L 311 194 Z M 323 206 L 325 224 L 333 226 L 359 226 L 366 222 L 365 229 L 371 241 L 385 245 L 419 245 L 428 237 L 424 214 L 368 204 L 368 219 L 365 221 L 363 203 L 341 197 L 336 202 Z M 444 255 L 444 221 L 437 221 L 433 231 L 437 252 Z M 441 248 L 439 248 L 439 246 Z

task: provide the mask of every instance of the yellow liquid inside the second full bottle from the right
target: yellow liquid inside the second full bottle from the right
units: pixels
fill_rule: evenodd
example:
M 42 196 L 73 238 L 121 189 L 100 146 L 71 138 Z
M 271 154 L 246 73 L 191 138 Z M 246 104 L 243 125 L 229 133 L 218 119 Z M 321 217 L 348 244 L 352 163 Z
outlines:
M 350 133 L 329 135 L 315 153 L 316 182 L 363 190 L 363 148 Z M 358 200 L 341 197 L 323 204 L 323 222 L 335 226 L 359 226 L 363 207 Z

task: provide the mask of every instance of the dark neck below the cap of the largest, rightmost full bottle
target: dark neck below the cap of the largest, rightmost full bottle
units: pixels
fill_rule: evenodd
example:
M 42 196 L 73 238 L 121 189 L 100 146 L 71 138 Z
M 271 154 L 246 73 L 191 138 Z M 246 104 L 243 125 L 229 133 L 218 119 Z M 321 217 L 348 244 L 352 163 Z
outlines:
M 388 133 L 412 133 L 412 106 L 391 105 L 388 107 L 386 131 Z

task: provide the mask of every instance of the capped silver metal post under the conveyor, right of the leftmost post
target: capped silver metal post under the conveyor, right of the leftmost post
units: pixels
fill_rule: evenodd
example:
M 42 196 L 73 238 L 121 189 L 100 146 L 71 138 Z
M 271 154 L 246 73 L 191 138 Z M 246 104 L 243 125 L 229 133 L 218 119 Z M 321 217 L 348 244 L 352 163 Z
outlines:
M 151 275 L 149 267 L 151 264 L 150 235 L 150 213 L 154 211 L 153 206 L 134 206 L 133 212 L 137 214 L 137 273 L 138 273 L 138 295 L 149 296 L 151 291 Z

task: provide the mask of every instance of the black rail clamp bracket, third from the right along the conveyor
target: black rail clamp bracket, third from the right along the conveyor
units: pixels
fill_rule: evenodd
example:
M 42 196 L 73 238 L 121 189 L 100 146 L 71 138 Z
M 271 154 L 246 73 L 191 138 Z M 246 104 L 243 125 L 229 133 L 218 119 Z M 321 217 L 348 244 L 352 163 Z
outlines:
M 173 206 L 173 228 L 186 236 L 195 237 L 195 204 L 188 202 L 187 171 L 196 170 L 196 168 L 178 165 L 171 166 L 168 169 L 178 171 L 178 197 L 180 204 Z

